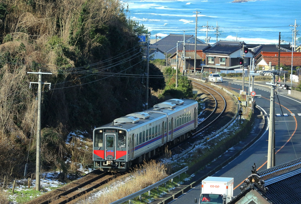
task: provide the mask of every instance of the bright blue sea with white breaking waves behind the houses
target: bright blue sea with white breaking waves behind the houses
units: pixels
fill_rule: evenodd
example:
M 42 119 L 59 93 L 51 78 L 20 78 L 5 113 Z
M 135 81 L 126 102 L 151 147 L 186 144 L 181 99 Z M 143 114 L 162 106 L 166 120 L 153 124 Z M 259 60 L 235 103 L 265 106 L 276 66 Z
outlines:
M 209 43 L 218 40 L 244 41 L 249 44 L 292 44 L 293 25 L 301 25 L 300 0 L 254 0 L 232 3 L 231 0 L 128 0 L 129 18 L 143 24 L 151 39 L 163 38 L 169 34 L 195 36 L 205 42 L 208 22 Z M 301 30 L 297 27 L 296 30 Z M 301 31 L 299 32 L 301 33 Z M 296 45 L 301 43 L 297 35 Z

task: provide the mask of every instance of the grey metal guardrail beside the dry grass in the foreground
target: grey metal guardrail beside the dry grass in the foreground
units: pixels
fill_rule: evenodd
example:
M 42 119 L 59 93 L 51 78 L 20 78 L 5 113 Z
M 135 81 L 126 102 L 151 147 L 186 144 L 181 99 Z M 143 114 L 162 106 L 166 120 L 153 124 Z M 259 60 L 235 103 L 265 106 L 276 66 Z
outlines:
M 154 188 L 156 188 L 156 187 L 158 187 L 158 186 L 160 186 L 160 185 L 168 182 L 169 180 L 175 178 L 176 176 L 181 175 L 184 172 L 186 173 L 187 170 L 188 170 L 188 167 L 185 167 L 185 168 L 177 171 L 176 173 L 173 173 L 172 175 L 167 176 L 165 179 L 162 179 L 161 181 L 158 181 L 158 182 L 156 182 L 156 183 L 154 183 L 154 184 L 152 184 L 152 185 L 150 185 L 150 186 L 148 186 L 148 187 L 146 187 L 146 188 L 144 188 L 142 190 L 139 190 L 139 191 L 137 191 L 135 193 L 132 193 L 131 195 L 128 195 L 128 196 L 126 196 L 126 197 L 124 197 L 122 199 L 119 199 L 119 200 L 116 200 L 114 202 L 111 202 L 110 204 L 121 204 L 121 203 L 124 203 L 124 202 L 126 202 L 128 200 L 134 199 L 135 197 L 141 196 L 143 193 L 146 193 L 146 192 L 150 193 L 150 191 L 153 190 Z

